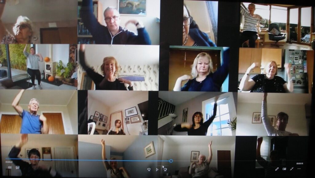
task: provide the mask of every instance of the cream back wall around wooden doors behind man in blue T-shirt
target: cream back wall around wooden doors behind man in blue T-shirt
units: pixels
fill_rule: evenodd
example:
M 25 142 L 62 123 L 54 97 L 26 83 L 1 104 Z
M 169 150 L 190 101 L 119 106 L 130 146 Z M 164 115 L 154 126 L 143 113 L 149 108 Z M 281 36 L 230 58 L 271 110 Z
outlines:
M 29 109 L 27 108 L 28 105 L 21 104 L 20 106 L 23 109 L 25 109 L 26 111 L 29 111 Z M 14 108 L 12 107 L 11 104 L 3 104 L 1 106 L 1 112 L 16 113 L 16 111 L 14 110 Z M 77 117 L 76 118 L 70 117 L 68 109 L 67 109 L 66 106 L 62 106 L 62 105 L 60 105 L 60 106 L 57 106 L 57 105 L 43 105 L 43 104 L 41 104 L 41 105 L 39 105 L 39 109 L 38 109 L 37 113 L 38 114 L 42 114 L 42 112 L 45 112 L 45 113 L 62 112 L 62 116 L 64 117 L 62 119 L 63 119 L 63 126 L 64 126 L 64 129 L 65 129 L 65 134 L 74 134 L 73 133 L 73 127 L 77 127 L 77 124 L 76 125 L 72 125 L 71 123 L 74 123 L 74 122 L 77 123 Z

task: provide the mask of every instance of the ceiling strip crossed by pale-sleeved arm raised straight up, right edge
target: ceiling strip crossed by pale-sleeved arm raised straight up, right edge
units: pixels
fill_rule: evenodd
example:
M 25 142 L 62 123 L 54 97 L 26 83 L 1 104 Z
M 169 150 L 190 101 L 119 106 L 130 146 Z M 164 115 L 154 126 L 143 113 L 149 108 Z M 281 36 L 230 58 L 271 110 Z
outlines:
M 238 93 L 238 103 L 261 103 L 263 93 Z M 267 103 L 307 104 L 312 103 L 312 94 L 304 93 L 268 93 Z

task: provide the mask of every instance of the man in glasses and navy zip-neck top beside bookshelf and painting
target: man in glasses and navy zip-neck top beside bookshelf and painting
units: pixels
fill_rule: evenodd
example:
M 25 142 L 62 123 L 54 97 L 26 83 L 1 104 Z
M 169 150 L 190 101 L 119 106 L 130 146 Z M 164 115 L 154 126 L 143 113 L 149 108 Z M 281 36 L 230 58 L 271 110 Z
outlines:
M 104 11 L 106 26 L 101 25 L 93 14 L 92 0 L 83 0 L 81 8 L 83 24 L 88 28 L 96 44 L 151 45 L 148 32 L 142 22 L 129 20 L 137 27 L 138 35 L 120 25 L 120 14 L 116 8 L 108 7 Z

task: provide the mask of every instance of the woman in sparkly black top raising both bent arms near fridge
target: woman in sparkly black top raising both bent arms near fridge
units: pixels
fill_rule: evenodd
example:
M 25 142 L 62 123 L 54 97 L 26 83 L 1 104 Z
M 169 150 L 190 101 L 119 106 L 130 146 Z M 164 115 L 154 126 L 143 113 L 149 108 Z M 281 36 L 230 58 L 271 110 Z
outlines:
M 257 74 L 253 78 L 249 79 L 249 75 L 252 70 L 260 67 L 258 63 L 253 63 L 246 70 L 243 76 L 239 89 L 242 91 L 250 92 L 268 92 L 268 93 L 290 93 L 293 92 L 293 81 L 290 73 L 290 64 L 285 64 L 285 71 L 288 75 L 289 82 L 286 82 L 278 74 L 278 65 L 276 61 L 270 61 L 266 64 L 264 73 Z

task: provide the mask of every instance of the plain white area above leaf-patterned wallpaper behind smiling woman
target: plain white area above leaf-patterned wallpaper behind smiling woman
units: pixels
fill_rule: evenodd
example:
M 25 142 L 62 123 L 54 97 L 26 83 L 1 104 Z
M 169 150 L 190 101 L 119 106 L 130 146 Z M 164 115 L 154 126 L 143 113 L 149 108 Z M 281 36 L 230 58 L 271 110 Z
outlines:
M 117 59 L 119 65 L 159 64 L 158 45 L 85 45 L 85 60 L 98 66 L 107 56 Z

